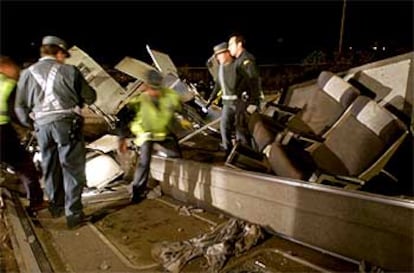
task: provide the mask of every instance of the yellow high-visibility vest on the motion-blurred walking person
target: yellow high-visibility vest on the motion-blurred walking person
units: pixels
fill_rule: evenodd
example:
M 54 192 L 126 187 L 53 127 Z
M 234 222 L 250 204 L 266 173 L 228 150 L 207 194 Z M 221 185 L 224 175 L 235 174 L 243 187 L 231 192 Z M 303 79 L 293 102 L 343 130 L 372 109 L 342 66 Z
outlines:
M 146 93 L 133 98 L 128 104 L 136 111 L 130 123 L 136 136 L 134 143 L 141 146 L 147 140 L 163 141 L 170 131 L 174 113 L 181 108 L 180 96 L 169 88 L 161 89 L 158 107 Z

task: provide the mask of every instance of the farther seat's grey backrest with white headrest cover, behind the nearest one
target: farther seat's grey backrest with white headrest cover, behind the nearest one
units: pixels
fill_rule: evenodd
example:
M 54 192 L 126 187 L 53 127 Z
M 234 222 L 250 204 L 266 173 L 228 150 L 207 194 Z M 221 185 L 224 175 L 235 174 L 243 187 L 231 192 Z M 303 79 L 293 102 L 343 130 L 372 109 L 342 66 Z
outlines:
M 320 73 L 317 84 L 319 88 L 314 91 L 302 111 L 289 121 L 288 126 L 299 123 L 303 127 L 304 124 L 309 133 L 320 136 L 340 118 L 360 92 L 329 71 Z

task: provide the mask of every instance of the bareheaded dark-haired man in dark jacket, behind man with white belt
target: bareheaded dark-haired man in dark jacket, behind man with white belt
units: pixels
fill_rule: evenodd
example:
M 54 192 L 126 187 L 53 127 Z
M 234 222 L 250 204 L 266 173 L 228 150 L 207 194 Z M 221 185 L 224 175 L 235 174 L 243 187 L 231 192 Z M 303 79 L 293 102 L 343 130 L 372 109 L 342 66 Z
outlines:
M 233 34 L 229 38 L 228 49 L 235 58 L 237 71 L 236 90 L 241 94 L 241 100 L 237 106 L 237 127 L 244 130 L 242 144 L 250 146 L 248 137 L 245 112 L 248 105 L 255 105 L 260 108 L 263 94 L 261 90 L 259 69 L 256 65 L 256 58 L 245 48 L 246 41 L 242 35 Z

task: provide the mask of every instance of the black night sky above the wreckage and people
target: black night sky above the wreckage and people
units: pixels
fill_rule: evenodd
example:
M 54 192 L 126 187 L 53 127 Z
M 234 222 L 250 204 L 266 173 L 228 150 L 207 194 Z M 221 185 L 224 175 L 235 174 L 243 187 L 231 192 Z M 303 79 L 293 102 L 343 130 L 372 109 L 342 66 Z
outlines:
M 145 45 L 177 66 L 205 66 L 212 47 L 242 33 L 259 64 L 300 62 L 338 49 L 343 1 L 4 1 L 1 53 L 38 57 L 44 35 L 76 44 L 99 63 L 151 63 Z M 413 1 L 346 1 L 343 48 L 413 48 Z

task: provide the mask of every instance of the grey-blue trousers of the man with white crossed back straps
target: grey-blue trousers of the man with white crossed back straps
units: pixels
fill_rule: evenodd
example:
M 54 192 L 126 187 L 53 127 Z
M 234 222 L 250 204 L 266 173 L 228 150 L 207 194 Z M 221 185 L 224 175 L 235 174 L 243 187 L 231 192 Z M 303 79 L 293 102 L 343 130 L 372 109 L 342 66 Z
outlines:
M 86 148 L 79 117 L 65 117 L 35 125 L 50 209 L 64 207 L 65 215 L 82 217 L 82 191 L 86 185 Z

